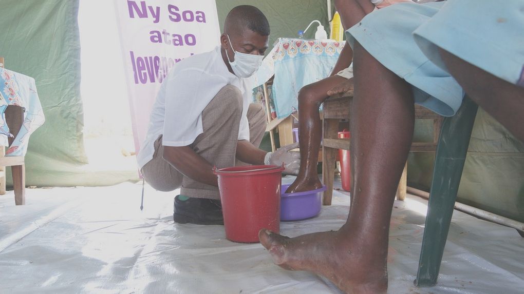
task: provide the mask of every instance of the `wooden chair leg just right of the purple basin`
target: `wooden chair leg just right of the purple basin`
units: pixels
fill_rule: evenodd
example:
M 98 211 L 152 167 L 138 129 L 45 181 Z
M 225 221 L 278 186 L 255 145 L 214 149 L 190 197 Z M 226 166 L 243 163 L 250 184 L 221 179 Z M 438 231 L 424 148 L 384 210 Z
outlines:
M 339 120 L 337 119 L 324 119 L 324 139 L 337 138 L 339 131 Z M 336 153 L 339 150 L 335 148 L 322 147 L 322 182 L 326 186 L 324 191 L 324 197 L 322 200 L 323 205 L 331 205 L 331 199 L 333 197 L 333 180 L 335 179 L 335 161 Z

